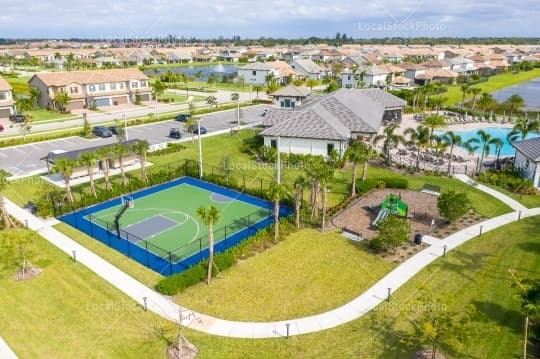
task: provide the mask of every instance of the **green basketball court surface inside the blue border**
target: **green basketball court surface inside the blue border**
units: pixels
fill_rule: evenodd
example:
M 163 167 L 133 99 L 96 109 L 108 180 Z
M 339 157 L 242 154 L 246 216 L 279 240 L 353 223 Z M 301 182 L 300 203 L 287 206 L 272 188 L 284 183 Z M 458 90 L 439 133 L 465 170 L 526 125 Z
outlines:
M 197 216 L 199 207 L 214 205 L 220 218 L 214 225 L 215 243 L 252 225 L 272 213 L 241 200 L 182 183 L 133 201 L 120 219 L 121 236 L 174 262 L 208 247 L 208 230 Z M 96 224 L 108 222 L 109 228 L 123 205 L 95 212 L 87 217 Z M 96 220 L 97 219 L 97 220 Z

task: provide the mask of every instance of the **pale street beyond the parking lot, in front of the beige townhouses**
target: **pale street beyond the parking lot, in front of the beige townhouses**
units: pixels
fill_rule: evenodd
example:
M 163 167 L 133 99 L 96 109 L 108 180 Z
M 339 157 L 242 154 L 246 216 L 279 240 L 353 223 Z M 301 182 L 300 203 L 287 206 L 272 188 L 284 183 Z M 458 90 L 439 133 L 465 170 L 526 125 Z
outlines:
M 168 92 L 177 92 L 180 94 L 185 94 L 185 91 L 180 90 L 167 90 Z M 228 103 L 231 102 L 231 94 L 233 91 L 225 91 L 225 90 L 218 90 L 216 93 L 206 93 L 206 92 L 196 92 L 196 91 L 190 91 L 190 96 L 204 96 L 208 97 L 209 95 L 215 96 L 218 100 L 218 103 Z M 240 92 L 240 102 L 247 102 L 251 99 L 255 99 L 255 93 L 251 92 Z M 266 94 L 259 93 L 259 98 L 267 98 Z M 195 105 L 197 108 L 202 107 L 208 107 L 208 104 L 206 104 L 204 101 L 195 102 Z M 137 117 L 144 117 L 147 116 L 149 113 L 154 114 L 162 114 L 162 113 L 169 113 L 169 112 L 181 112 L 188 109 L 188 104 L 159 104 L 157 107 L 154 105 L 146 106 L 146 107 L 140 107 L 136 106 L 133 108 L 127 108 L 122 110 L 115 110 L 115 111 L 109 111 L 104 113 L 88 113 L 87 119 L 88 122 L 91 125 L 104 123 L 104 122 L 112 122 L 115 120 L 121 121 L 123 119 L 124 114 L 127 118 L 137 118 Z M 171 114 L 171 118 L 173 115 Z M 36 122 L 32 125 L 32 132 L 42 132 L 42 131 L 54 131 L 54 130 L 62 130 L 62 129 L 68 129 L 71 127 L 77 127 L 83 125 L 83 119 L 82 115 L 78 116 L 71 120 L 65 120 L 63 122 Z M 8 137 L 8 136 L 16 136 L 20 135 L 20 129 L 16 126 L 10 128 L 9 123 L 4 121 L 4 128 L 5 130 L 0 133 L 1 137 Z

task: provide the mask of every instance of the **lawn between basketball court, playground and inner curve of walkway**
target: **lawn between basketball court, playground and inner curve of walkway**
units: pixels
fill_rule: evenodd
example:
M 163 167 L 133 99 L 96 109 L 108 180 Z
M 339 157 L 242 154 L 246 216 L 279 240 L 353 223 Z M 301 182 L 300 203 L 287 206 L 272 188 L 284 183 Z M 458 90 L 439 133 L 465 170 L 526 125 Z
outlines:
M 284 320 L 345 304 L 393 267 L 363 244 L 304 229 L 235 265 L 211 285 L 188 288 L 176 300 L 230 320 Z

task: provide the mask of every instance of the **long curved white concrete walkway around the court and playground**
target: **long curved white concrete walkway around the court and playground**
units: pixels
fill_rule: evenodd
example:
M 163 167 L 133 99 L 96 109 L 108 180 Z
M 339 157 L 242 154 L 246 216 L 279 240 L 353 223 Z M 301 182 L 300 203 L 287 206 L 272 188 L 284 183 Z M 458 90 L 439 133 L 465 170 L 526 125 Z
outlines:
M 484 187 L 485 186 L 479 186 L 477 188 L 487 193 L 496 192 L 490 188 Z M 391 288 L 392 292 L 397 290 L 424 267 L 438 257 L 441 257 L 445 246 L 446 250 L 450 251 L 462 243 L 478 236 L 480 231 L 485 233 L 517 221 L 519 218 L 540 215 L 540 207 L 526 209 L 521 205 L 517 206 L 513 203 L 515 201 L 511 198 L 498 192 L 496 192 L 496 194 L 497 198 L 507 203 L 512 208 L 519 208 L 519 212 L 515 211 L 488 219 L 454 233 L 443 240 L 425 237 L 426 242 L 431 244 L 429 247 L 409 258 L 349 303 L 326 313 L 276 322 L 235 322 L 182 308 L 52 228 L 51 222 L 44 222 L 28 213 L 26 210 L 16 206 L 9 200 L 6 200 L 6 207 L 8 212 L 15 218 L 23 223 L 28 221 L 29 228 L 36 230 L 41 236 L 69 256 L 72 256 L 73 251 L 76 251 L 78 262 L 87 266 L 97 275 L 130 296 L 137 303 L 144 305 L 143 298 L 146 298 L 148 309 L 168 320 L 177 322 L 181 317 L 183 325 L 208 334 L 235 338 L 276 338 L 285 336 L 287 327 L 289 329 L 289 335 L 299 335 L 333 328 L 355 320 L 386 300 L 388 288 Z

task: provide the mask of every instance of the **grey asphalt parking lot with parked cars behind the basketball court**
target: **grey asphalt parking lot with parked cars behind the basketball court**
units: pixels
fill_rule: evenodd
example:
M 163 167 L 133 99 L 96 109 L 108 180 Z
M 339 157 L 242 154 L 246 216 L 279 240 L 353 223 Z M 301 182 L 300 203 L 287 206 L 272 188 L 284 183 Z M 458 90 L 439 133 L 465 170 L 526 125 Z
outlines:
M 264 105 L 246 107 L 240 109 L 241 122 L 244 124 L 256 124 L 261 120 Z M 236 124 L 236 110 L 214 112 L 203 115 L 201 125 L 206 127 L 209 133 L 226 130 Z M 171 127 L 180 128 L 184 136 L 184 123 L 178 121 L 163 121 L 147 125 L 128 127 L 129 139 L 147 140 L 150 145 L 171 141 L 168 137 Z M 41 158 L 53 150 L 72 151 L 81 148 L 99 146 L 116 142 L 116 137 L 84 139 L 81 137 L 68 137 L 58 140 L 31 143 L 27 145 L 0 148 L 0 168 L 5 169 L 14 177 L 25 177 L 47 170 L 45 161 Z

